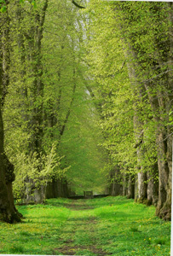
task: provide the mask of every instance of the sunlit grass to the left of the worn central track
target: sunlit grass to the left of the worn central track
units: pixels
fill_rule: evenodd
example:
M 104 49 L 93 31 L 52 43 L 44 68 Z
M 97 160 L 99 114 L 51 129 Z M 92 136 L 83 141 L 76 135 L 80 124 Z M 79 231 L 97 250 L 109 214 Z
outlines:
M 19 211 L 25 217 L 22 223 L 0 224 L 0 253 L 51 254 L 70 210 L 37 205 Z

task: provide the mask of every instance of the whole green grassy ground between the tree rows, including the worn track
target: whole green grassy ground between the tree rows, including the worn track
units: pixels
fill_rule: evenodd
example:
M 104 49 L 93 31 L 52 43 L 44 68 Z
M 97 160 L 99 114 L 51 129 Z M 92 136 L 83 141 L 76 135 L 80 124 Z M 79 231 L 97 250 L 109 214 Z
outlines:
M 50 199 L 18 208 L 22 223 L 0 223 L 0 253 L 170 255 L 170 222 L 124 197 Z

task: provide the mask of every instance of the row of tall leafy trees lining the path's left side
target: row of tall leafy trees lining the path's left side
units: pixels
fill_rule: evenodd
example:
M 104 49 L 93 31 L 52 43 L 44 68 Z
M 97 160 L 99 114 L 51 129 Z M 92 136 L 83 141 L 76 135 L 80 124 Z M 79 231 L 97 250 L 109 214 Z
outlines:
M 40 203 L 105 186 L 84 21 L 72 2 L 2 2 L 0 218 L 8 222 L 20 221 L 14 198 Z

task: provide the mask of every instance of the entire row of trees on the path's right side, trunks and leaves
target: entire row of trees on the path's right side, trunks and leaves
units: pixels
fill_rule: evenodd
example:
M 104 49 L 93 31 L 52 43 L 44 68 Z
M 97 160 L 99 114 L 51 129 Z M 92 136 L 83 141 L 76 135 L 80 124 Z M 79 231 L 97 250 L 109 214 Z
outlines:
M 170 219 L 172 3 L 89 2 L 86 48 L 112 195 Z

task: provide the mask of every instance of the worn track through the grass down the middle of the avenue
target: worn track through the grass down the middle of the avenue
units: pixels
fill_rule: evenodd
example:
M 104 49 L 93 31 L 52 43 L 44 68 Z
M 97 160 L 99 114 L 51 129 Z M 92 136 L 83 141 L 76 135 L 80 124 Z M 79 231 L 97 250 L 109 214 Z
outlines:
M 107 252 L 99 247 L 96 237 L 97 219 L 93 207 L 84 201 L 72 201 L 65 205 L 71 209 L 66 226 L 61 231 L 61 247 L 53 249 L 54 254 L 106 256 Z

